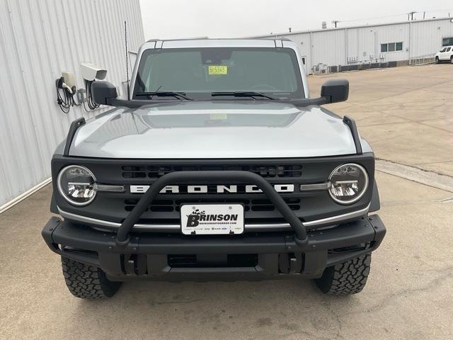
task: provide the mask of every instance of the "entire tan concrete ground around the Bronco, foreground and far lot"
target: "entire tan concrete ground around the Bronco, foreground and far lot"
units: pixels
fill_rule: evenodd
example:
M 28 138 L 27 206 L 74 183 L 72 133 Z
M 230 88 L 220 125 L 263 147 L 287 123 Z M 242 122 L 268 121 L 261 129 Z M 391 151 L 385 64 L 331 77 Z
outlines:
M 350 101 L 331 108 L 357 120 L 377 157 L 450 178 L 452 66 L 337 74 Z M 326 79 L 309 78 L 314 93 Z M 0 339 L 451 339 L 453 192 L 403 177 L 377 172 L 388 232 L 350 297 L 270 280 L 132 282 L 109 300 L 76 299 L 40 237 L 47 186 L 0 215 Z

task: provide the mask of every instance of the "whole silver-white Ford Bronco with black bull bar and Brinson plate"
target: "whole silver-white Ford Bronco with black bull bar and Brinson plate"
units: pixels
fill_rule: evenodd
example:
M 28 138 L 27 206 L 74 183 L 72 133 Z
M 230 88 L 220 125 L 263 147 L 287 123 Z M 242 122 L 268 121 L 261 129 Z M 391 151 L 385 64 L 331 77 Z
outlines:
M 374 154 L 332 79 L 309 95 L 289 40 L 153 40 L 130 94 L 94 81 L 113 106 L 75 120 L 52 158 L 42 237 L 76 297 L 125 280 L 314 278 L 364 288 L 385 227 Z

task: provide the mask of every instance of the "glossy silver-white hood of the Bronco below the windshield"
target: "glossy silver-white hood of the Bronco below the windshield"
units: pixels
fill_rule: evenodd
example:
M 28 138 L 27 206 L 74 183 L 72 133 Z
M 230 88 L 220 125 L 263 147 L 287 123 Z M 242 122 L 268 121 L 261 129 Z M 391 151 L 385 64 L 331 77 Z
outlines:
M 115 108 L 88 120 L 70 156 L 125 159 L 325 157 L 355 154 L 348 125 L 318 106 L 183 101 Z

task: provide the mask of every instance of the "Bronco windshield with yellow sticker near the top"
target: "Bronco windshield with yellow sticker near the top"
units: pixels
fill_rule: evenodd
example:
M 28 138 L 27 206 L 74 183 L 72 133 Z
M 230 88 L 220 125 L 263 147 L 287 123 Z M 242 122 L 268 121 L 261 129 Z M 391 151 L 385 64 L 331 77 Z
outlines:
M 147 99 L 143 94 L 156 91 L 178 92 L 194 99 L 219 99 L 212 96 L 219 92 L 256 92 L 278 99 L 304 98 L 297 56 L 290 48 L 146 50 L 140 60 L 133 96 Z M 168 98 L 171 97 L 153 97 Z M 230 99 L 228 94 L 222 94 L 222 99 L 226 98 Z M 231 96 L 231 99 L 244 98 Z

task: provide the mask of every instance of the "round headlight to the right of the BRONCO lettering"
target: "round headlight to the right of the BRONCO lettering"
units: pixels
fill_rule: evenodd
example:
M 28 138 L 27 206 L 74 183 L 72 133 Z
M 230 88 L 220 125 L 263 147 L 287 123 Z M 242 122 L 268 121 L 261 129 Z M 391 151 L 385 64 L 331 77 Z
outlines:
M 331 198 L 341 204 L 351 204 L 360 200 L 368 188 L 367 171 L 358 164 L 343 164 L 333 170 L 328 180 Z

